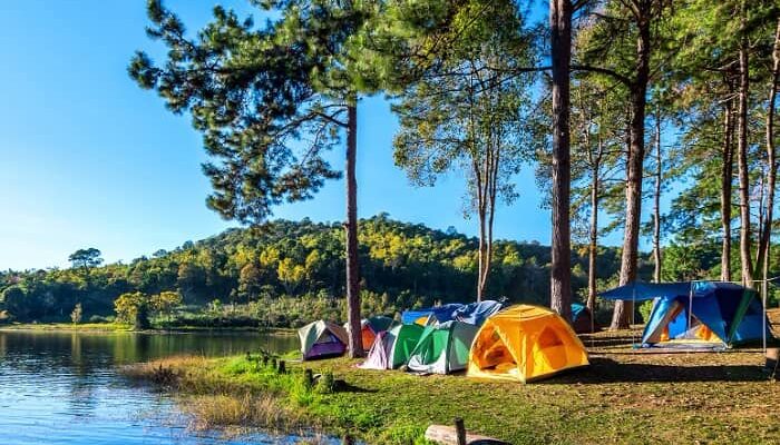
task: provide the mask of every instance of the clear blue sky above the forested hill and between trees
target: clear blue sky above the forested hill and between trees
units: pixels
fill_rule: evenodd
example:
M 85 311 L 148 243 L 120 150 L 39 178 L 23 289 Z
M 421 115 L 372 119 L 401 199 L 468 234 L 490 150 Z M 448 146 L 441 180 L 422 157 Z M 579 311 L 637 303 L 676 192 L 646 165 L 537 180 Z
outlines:
M 227 2 L 243 12 L 247 2 Z M 69 254 L 97 247 L 107 261 L 129 261 L 214 235 L 235 224 L 205 207 L 201 136 L 174 116 L 126 67 L 136 49 L 159 47 L 144 32 L 144 0 L 0 2 L 0 269 L 67 266 Z M 211 1 L 168 0 L 191 30 Z M 359 215 L 476 235 L 461 212 L 462 178 L 436 188 L 409 186 L 392 164 L 397 120 L 382 98 L 360 103 Z M 343 152 L 332 154 L 341 167 Z M 497 212 L 498 238 L 549 243 L 530 167 L 520 198 Z M 341 220 L 343 182 L 275 216 Z M 617 234 L 613 241 L 620 239 Z

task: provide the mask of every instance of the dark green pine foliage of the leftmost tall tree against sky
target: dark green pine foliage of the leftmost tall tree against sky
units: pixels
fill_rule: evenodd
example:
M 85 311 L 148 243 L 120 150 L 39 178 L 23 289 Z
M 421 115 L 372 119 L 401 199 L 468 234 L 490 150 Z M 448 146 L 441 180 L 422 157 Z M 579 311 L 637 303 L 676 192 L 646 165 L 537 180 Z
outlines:
M 214 8 L 195 37 L 159 0 L 148 2 L 150 38 L 168 49 L 156 66 L 137 52 L 128 71 L 177 113 L 188 111 L 212 160 L 204 165 L 207 205 L 225 218 L 266 219 L 283 201 L 311 198 L 339 174 L 323 152 L 339 141 L 340 116 L 359 82 L 351 69 L 360 8 L 330 1 L 255 1 L 269 18 L 255 26 Z

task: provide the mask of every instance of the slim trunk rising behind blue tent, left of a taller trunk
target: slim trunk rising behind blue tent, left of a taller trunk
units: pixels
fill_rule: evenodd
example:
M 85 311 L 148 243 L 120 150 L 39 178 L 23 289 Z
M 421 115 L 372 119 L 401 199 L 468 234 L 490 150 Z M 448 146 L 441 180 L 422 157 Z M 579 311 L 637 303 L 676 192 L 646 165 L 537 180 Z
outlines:
M 731 88 L 729 88 L 731 93 Z M 721 227 L 723 241 L 721 245 L 721 280 L 731 281 L 731 196 L 734 169 L 734 123 L 732 117 L 732 101 L 725 102 L 723 111 L 723 151 L 721 159 Z

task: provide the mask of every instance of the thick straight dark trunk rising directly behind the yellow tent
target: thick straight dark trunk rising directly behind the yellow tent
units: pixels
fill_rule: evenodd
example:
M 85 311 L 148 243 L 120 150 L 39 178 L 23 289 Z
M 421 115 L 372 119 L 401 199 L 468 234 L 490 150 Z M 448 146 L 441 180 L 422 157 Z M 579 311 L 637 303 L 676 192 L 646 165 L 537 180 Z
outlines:
M 550 58 L 553 68 L 553 240 L 550 307 L 572 319 L 572 246 L 569 191 L 569 68 L 572 61 L 572 1 L 549 0 Z

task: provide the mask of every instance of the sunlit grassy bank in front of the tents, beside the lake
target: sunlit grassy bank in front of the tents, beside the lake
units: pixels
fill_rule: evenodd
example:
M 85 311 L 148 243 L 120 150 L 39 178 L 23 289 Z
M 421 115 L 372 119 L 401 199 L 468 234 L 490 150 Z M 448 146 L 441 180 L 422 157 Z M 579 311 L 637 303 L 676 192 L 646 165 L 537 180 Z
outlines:
M 633 352 L 632 339 L 596 334 L 585 339 L 589 368 L 525 386 L 362 370 L 347 358 L 287 363 L 286 375 L 255 356 L 169 358 L 126 372 L 170 384 L 196 427 L 308 425 L 408 444 L 461 416 L 469 429 L 514 444 L 780 443 L 780 384 L 762 373 L 760 350 L 647 354 Z M 343 383 L 309 388 L 304 366 Z

